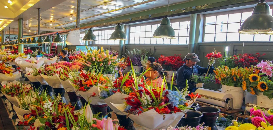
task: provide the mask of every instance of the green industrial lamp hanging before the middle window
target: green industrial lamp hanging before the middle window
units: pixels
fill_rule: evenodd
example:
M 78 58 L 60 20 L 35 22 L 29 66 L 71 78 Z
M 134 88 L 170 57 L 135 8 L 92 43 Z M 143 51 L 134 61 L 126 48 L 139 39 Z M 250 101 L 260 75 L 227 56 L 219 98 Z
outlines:
M 176 39 L 174 29 L 171 27 L 169 18 L 162 18 L 160 26 L 158 26 L 153 34 L 154 38 Z

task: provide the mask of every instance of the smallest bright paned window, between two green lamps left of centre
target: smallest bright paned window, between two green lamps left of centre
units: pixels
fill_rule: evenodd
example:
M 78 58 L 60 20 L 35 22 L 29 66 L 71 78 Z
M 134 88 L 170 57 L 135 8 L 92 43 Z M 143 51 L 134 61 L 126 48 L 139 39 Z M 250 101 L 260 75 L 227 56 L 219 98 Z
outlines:
M 109 40 L 115 30 L 94 31 L 97 41 L 94 44 L 119 44 L 117 40 Z

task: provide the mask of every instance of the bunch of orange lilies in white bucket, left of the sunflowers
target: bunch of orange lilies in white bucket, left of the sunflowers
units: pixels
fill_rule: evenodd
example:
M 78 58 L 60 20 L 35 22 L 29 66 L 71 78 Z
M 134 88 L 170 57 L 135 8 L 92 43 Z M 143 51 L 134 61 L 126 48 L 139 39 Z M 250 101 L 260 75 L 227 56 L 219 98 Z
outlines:
M 229 68 L 227 66 L 218 66 L 213 72 L 216 83 L 222 85 L 242 87 L 243 81 L 248 81 L 248 76 L 254 73 L 256 67 Z M 244 89 L 244 88 L 243 88 Z

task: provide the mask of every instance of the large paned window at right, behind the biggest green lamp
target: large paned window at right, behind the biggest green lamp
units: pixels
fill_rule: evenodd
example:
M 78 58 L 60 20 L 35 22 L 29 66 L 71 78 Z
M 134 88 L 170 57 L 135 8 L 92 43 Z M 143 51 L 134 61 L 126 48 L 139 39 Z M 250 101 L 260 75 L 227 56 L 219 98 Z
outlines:
M 272 15 L 272 10 L 270 10 Z M 229 13 L 205 17 L 204 42 L 273 41 L 270 35 L 240 34 L 241 24 L 251 12 Z

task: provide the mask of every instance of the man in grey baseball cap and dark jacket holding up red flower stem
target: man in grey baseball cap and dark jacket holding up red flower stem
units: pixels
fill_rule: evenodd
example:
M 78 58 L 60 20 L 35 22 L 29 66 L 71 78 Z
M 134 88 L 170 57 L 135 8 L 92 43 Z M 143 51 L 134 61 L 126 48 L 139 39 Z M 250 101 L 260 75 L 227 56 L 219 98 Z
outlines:
M 213 73 L 214 70 L 213 64 L 215 63 L 214 60 L 209 60 L 209 65 L 207 66 L 207 68 L 196 65 L 196 63 L 200 62 L 200 60 L 198 59 L 198 56 L 195 53 L 188 53 L 183 60 L 186 63 L 184 63 L 183 66 L 177 70 L 176 75 L 176 83 L 179 86 L 180 90 L 186 87 L 186 79 L 189 79 L 193 73 L 195 74 L 207 73 L 209 65 L 211 65 L 209 73 L 210 74 Z M 203 85 L 204 83 L 194 83 L 188 80 L 189 86 L 188 91 L 190 91 L 190 93 L 195 92 L 197 88 L 202 88 Z

